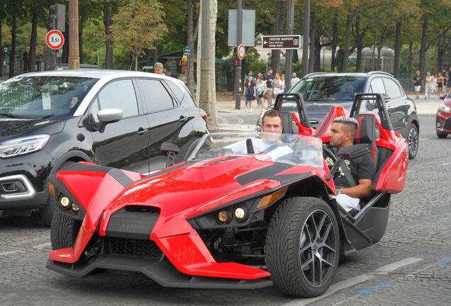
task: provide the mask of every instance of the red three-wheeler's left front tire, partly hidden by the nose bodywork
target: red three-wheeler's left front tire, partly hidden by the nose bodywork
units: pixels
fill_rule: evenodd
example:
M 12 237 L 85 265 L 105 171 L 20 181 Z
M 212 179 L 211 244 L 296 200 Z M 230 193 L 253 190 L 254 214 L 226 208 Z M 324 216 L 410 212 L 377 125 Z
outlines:
M 63 215 L 59 210 L 56 210 L 50 227 L 52 249 L 65 249 L 74 246 L 81 225 L 82 223 L 79 220 Z

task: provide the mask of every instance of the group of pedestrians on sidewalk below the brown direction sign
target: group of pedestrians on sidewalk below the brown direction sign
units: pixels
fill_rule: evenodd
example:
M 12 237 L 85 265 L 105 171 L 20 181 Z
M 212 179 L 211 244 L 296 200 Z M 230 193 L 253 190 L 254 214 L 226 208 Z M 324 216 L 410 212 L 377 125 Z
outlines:
M 299 81 L 296 73 L 291 74 L 291 86 Z M 245 96 L 246 112 L 252 113 L 252 104 L 256 101 L 257 107 L 262 109 L 272 105 L 272 98 L 276 98 L 278 94 L 285 92 L 285 75 L 272 74 L 272 69 L 268 68 L 266 73 L 257 73 L 257 77 L 253 76 L 253 72 L 247 73 L 244 79 L 243 96 Z

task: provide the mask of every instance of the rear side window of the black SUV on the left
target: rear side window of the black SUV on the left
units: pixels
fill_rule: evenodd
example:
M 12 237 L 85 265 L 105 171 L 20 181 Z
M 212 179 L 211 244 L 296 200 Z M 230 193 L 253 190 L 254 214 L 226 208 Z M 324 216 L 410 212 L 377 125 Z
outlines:
M 162 111 L 174 107 L 172 96 L 161 81 L 157 79 L 140 79 L 147 112 Z

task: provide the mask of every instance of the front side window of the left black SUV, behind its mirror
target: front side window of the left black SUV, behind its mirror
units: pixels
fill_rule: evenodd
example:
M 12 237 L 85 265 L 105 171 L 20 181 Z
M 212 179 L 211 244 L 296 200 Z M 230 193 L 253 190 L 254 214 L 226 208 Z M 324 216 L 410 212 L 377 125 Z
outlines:
M 106 85 L 98 96 L 100 109 L 118 108 L 123 118 L 138 115 L 138 101 L 131 79 L 113 81 Z

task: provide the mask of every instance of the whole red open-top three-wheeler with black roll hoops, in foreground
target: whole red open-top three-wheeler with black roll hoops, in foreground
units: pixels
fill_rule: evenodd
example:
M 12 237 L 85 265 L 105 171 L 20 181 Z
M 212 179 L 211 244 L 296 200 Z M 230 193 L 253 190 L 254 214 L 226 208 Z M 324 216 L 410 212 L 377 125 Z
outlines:
M 298 112 L 284 113 L 284 103 Z M 148 176 L 87 163 L 60 171 L 51 180 L 57 213 L 48 268 L 76 277 L 140 271 L 179 288 L 324 293 L 340 256 L 384 234 L 391 194 L 406 181 L 407 142 L 379 94 L 357 94 L 351 113 L 333 107 L 318 130 L 301 96 L 279 95 L 276 107 L 284 134 L 205 135 L 172 165 L 177 146 L 164 143 L 170 166 Z M 360 122 L 356 144 L 335 154 L 323 144 L 333 118 L 346 113 Z M 331 178 L 360 154 L 372 154 L 377 175 L 362 210 L 350 215 L 336 203 Z

